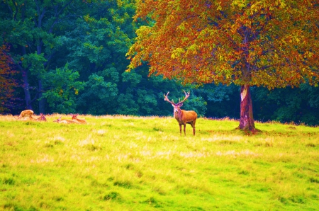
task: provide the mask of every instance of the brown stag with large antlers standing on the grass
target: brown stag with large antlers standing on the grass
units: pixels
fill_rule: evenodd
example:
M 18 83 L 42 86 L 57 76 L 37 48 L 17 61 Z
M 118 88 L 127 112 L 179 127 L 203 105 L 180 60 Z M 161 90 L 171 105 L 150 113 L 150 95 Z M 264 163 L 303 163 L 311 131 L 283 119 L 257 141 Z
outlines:
M 184 91 L 184 90 L 183 90 Z M 169 101 L 169 98 L 167 97 L 169 92 L 167 92 L 167 95 L 164 94 L 164 101 L 167 101 L 171 103 L 174 107 L 174 118 L 179 122 L 179 132 L 181 134 L 181 125 L 184 125 L 184 135 L 186 135 L 185 127 L 186 123 L 190 124 L 191 127 L 193 127 L 193 135 L 195 135 L 195 123 L 197 119 L 197 113 L 194 110 L 181 110 L 181 105 L 183 105 L 184 101 L 186 101 L 187 98 L 189 98 L 189 93 L 185 93 L 185 98 L 183 101 L 179 101 L 179 103 L 174 103 L 174 101 Z

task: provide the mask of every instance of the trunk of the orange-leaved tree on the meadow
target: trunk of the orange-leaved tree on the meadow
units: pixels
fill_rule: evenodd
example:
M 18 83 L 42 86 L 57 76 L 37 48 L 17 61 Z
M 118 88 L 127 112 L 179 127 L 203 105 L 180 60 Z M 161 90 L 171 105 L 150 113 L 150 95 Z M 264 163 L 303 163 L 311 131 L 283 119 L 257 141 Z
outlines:
M 240 88 L 240 130 L 255 131 L 254 117 L 252 115 L 252 97 L 250 96 L 250 86 L 245 84 Z

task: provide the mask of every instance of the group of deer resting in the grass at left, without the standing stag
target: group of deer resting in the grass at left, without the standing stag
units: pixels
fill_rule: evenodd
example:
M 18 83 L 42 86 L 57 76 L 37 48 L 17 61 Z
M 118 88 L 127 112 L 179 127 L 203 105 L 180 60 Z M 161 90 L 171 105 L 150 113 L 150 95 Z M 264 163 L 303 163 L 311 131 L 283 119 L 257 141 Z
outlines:
M 34 121 L 43 121 L 43 122 L 47 121 L 43 113 L 40 113 L 40 118 L 33 118 L 32 117 L 33 113 L 34 113 L 33 110 L 23 110 L 21 111 L 20 115 L 16 119 L 20 120 L 21 118 L 29 118 L 30 120 L 34 120 Z M 72 120 L 61 119 L 62 117 L 60 117 L 57 120 L 54 120 L 53 122 L 65 123 L 65 124 L 86 124 L 86 120 L 77 118 L 77 114 L 71 114 L 71 115 L 72 115 Z

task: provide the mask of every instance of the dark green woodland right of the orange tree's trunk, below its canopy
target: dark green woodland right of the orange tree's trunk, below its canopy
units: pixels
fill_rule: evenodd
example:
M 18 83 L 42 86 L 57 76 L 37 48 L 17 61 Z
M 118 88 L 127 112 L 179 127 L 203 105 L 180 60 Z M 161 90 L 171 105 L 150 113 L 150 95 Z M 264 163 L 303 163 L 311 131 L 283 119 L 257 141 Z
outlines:
M 255 119 L 267 121 L 304 123 L 319 125 L 319 87 L 301 84 L 299 89 L 255 88 L 254 99 Z

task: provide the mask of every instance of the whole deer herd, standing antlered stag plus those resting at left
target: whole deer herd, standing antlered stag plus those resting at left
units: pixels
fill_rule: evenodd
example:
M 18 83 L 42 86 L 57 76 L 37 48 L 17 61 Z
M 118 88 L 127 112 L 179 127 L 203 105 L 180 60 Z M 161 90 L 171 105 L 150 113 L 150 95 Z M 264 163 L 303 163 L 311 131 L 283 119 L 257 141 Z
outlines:
M 164 101 L 167 101 L 172 104 L 174 107 L 174 118 L 179 122 L 179 133 L 181 134 L 181 125 L 184 125 L 184 135 L 186 135 L 185 127 L 186 124 L 190 124 L 191 127 L 193 127 L 193 135 L 195 135 L 195 123 L 197 119 L 197 113 L 194 110 L 181 110 L 181 106 L 183 105 L 184 101 L 186 101 L 187 98 L 189 98 L 189 93 L 185 93 L 185 98 L 183 101 L 179 101 L 178 103 L 174 103 L 174 101 L 169 101 L 168 94 L 169 92 L 164 95 Z M 33 118 L 33 110 L 23 110 L 21 114 L 19 115 L 18 119 L 29 117 L 30 120 L 36 120 L 36 121 L 47 121 L 45 116 L 41 113 L 40 118 Z M 77 114 L 72 114 L 72 120 L 67 119 L 61 119 L 58 118 L 57 120 L 54 120 L 53 122 L 58 123 L 65 123 L 65 124 L 86 124 L 85 119 L 77 118 Z

